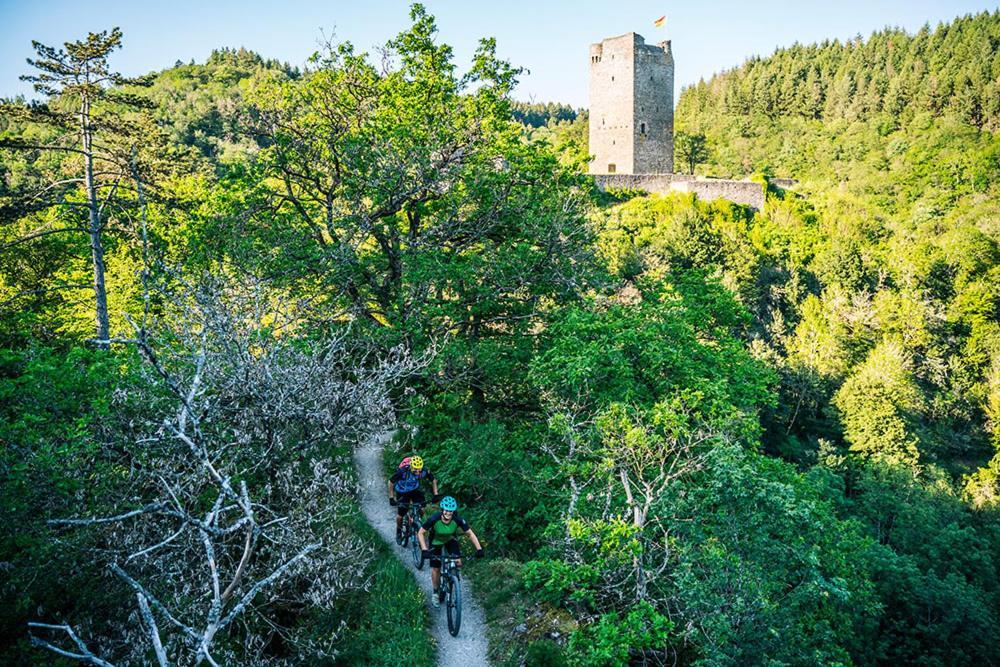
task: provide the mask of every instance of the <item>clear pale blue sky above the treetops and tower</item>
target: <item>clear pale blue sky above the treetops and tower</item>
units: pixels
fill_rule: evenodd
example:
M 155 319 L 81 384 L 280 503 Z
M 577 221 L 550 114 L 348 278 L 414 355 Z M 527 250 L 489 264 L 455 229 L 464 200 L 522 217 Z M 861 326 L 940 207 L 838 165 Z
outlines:
M 31 40 L 61 45 L 90 31 L 120 26 L 124 48 L 113 65 L 135 75 L 177 60 L 204 61 L 213 48 L 239 47 L 301 65 L 321 30 L 371 50 L 408 21 L 404 0 L 0 0 L 0 97 L 31 95 L 18 76 L 29 71 Z M 527 67 L 516 96 L 587 104 L 587 48 L 632 31 L 649 42 L 673 41 L 676 92 L 701 77 L 767 55 L 796 41 L 867 36 L 885 26 L 915 31 L 967 13 L 994 10 L 996 0 L 425 0 L 440 39 L 464 68 L 480 37 L 497 38 L 501 56 Z M 653 20 L 666 14 L 666 29 Z

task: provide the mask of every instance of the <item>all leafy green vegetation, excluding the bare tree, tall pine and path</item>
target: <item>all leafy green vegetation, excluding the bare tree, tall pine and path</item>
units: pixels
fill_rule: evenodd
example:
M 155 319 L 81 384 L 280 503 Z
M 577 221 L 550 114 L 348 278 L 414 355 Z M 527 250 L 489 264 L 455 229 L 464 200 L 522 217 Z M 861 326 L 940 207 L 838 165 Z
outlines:
M 149 257 L 167 284 L 265 279 L 316 329 L 433 350 L 397 396 L 400 446 L 500 556 L 468 571 L 496 664 L 996 663 L 998 17 L 796 45 L 683 91 L 679 165 L 799 180 L 760 212 L 593 192 L 586 114 L 512 101 L 490 39 L 458 74 L 419 5 L 388 69 L 350 44 L 305 71 L 178 63 L 145 89 L 177 167 L 150 183 L 148 244 L 135 197 L 108 217 L 112 329 Z M 0 137 L 59 138 L 26 118 Z M 26 208 L 75 165 L 0 151 L 0 242 L 82 202 Z M 68 342 L 92 327 L 85 241 L 0 263 L 6 662 L 37 658 L 29 618 L 99 636 L 132 603 L 79 558 L 106 545 L 44 524 L 107 509 L 131 411 L 156 407 L 113 402 L 135 359 Z M 338 662 L 430 664 L 409 575 L 385 551 L 367 575 L 282 613 L 318 643 L 347 622 Z

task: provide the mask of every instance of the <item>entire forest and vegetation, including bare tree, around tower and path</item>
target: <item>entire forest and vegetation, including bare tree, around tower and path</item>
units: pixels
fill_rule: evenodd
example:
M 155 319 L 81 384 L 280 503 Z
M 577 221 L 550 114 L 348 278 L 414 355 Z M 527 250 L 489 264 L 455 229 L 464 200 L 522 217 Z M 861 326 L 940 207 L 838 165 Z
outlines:
M 445 41 L 415 5 L 389 60 L 36 46 L 0 661 L 433 664 L 357 507 L 396 429 L 486 545 L 493 664 L 1000 662 L 1000 13 L 685 89 L 762 211 L 596 190 L 585 113 Z

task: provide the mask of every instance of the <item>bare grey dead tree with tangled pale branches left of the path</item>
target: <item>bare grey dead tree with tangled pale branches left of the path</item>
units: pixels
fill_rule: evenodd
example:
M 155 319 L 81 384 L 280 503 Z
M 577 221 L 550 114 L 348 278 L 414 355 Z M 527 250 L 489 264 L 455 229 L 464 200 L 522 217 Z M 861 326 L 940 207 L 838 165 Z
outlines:
M 244 651 L 259 650 L 248 615 L 279 600 L 329 607 L 363 585 L 337 567 L 373 553 L 338 522 L 354 491 L 338 470 L 343 443 L 388 426 L 388 389 L 417 364 L 402 350 L 352 349 L 344 337 L 308 344 L 296 335 L 297 305 L 261 285 L 181 290 L 170 319 L 155 336 L 136 325 L 134 338 L 107 341 L 135 346 L 145 362 L 141 389 L 120 397 L 149 415 L 127 448 L 132 508 L 49 523 L 103 530 L 113 545 L 108 571 L 137 601 L 120 621 L 126 662 L 150 651 L 160 665 L 168 656 L 244 661 L 253 656 L 219 642 L 237 621 Z M 110 664 L 68 624 L 31 630 L 38 646 Z M 63 631 L 75 649 L 41 630 Z M 328 655 L 334 640 L 303 650 Z

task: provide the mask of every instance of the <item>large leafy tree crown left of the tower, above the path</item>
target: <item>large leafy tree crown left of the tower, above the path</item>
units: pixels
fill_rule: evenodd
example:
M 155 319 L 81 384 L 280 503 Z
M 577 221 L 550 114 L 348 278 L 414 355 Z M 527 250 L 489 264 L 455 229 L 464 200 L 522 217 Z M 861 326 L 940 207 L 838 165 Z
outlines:
M 420 5 L 411 16 L 388 45 L 398 69 L 344 44 L 260 91 L 262 176 L 316 244 L 304 270 L 322 271 L 332 308 L 411 333 L 518 326 L 575 274 L 578 177 L 521 141 L 508 99 L 519 70 L 493 40 L 459 77 L 433 18 Z

